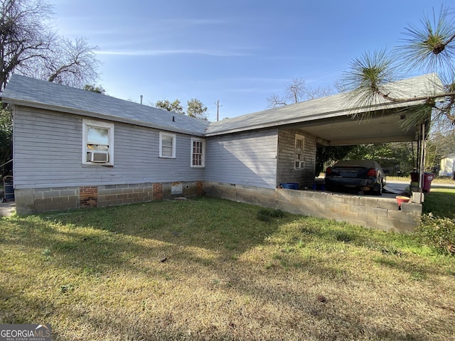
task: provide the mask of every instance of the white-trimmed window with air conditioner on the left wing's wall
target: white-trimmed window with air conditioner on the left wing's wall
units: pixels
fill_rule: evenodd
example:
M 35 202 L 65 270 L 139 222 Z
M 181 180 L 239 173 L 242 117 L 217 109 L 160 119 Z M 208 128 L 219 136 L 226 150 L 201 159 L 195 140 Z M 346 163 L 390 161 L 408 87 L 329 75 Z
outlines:
M 114 124 L 82 119 L 82 164 L 114 165 Z

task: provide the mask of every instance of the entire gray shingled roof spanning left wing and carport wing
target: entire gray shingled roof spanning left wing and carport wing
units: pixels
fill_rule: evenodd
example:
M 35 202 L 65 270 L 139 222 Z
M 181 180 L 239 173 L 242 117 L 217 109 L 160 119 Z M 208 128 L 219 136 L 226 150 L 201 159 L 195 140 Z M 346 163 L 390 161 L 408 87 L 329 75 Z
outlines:
M 245 114 L 223 121 L 208 122 L 21 75 L 11 77 L 2 97 L 3 101 L 7 103 L 122 121 L 196 136 L 215 136 L 292 124 L 334 144 L 365 143 L 371 137 L 368 134 L 376 134 L 376 140 L 368 140 L 371 142 L 414 141 L 413 131 L 402 132 L 400 128 L 397 128 L 399 118 L 392 117 L 386 121 L 385 117 L 377 117 L 369 124 L 366 123 L 368 125 L 365 127 L 366 129 L 359 129 L 359 126 L 353 124 L 350 117 L 352 114 L 365 111 L 400 109 L 422 104 L 424 100 L 422 98 L 417 100 L 418 97 L 443 92 L 441 80 L 436 74 L 423 75 L 390 83 L 387 91 L 391 97 L 416 98 L 416 100 L 390 102 L 378 98 L 377 102 L 371 106 L 363 107 L 355 104 L 355 99 L 349 94 L 343 93 Z M 343 133 L 340 134 L 339 132 L 343 129 Z M 360 136 L 359 133 L 363 135 Z M 393 136 L 394 134 L 402 136 L 398 138 Z

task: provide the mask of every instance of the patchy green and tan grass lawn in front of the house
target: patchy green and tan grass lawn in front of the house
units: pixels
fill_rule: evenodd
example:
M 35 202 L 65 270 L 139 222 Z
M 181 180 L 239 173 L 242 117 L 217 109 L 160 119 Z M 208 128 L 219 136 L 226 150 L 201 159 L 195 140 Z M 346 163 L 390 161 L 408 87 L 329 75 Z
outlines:
M 3 217 L 0 259 L 0 323 L 53 340 L 455 338 L 455 257 L 228 200 Z

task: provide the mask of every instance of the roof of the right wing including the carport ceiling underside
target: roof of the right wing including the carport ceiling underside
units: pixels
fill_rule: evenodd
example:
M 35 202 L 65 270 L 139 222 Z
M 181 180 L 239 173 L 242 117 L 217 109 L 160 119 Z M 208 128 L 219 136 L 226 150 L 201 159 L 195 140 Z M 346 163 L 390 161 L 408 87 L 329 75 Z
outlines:
M 443 92 L 436 74 L 422 75 L 387 87 L 390 97 L 412 99 Z M 356 107 L 349 93 L 312 99 L 306 102 L 255 112 L 232 119 L 213 122 L 205 136 L 230 134 L 238 131 L 289 126 L 303 129 L 322 139 L 328 145 L 348 145 L 394 141 L 416 141 L 418 127 L 405 129 L 400 124 L 402 109 L 412 109 L 423 104 L 416 101 L 390 102 L 378 99 L 368 107 Z M 353 114 L 374 112 L 370 119 L 353 119 Z M 410 114 L 410 111 L 407 111 Z

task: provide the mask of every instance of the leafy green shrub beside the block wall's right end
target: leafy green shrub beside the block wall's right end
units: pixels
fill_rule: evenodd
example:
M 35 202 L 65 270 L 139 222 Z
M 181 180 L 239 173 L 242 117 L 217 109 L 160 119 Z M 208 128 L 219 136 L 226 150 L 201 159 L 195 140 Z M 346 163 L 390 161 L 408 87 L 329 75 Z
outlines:
M 427 246 L 436 248 L 443 254 L 455 255 L 454 219 L 433 217 L 431 213 L 423 215 L 417 235 Z

